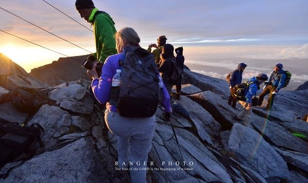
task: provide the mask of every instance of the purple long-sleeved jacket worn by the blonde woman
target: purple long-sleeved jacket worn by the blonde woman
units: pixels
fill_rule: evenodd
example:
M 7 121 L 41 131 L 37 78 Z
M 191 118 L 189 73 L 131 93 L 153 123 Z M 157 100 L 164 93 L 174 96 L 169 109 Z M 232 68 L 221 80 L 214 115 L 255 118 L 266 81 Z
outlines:
M 102 68 L 102 75 L 99 79 L 93 79 L 92 91 L 99 103 L 104 104 L 109 102 L 111 93 L 112 77 L 117 69 L 120 69 L 119 60 L 123 57 L 123 53 L 110 55 L 105 60 Z M 160 77 L 159 73 L 158 76 Z M 164 86 L 164 100 L 162 104 L 166 112 L 171 112 L 170 96 Z M 111 106 L 111 111 L 117 112 L 117 107 Z

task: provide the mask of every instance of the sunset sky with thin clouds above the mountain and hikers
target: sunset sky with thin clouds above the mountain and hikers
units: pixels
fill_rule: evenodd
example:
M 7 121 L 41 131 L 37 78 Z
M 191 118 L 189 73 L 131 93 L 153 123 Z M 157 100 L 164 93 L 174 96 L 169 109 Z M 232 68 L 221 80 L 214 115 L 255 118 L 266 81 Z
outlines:
M 93 33 L 46 2 L 92 29 L 76 11 L 74 0 L 0 0 L 0 52 L 27 72 L 59 57 L 95 51 Z M 225 63 L 231 58 L 308 58 L 306 0 L 93 0 L 93 3 L 99 10 L 110 14 L 117 30 L 123 27 L 136 30 L 143 48 L 156 43 L 160 35 L 166 35 L 167 43 L 175 48 L 183 46 L 187 64 L 203 62 L 201 65 L 208 66 L 216 62 L 221 66 L 217 64 L 221 58 Z

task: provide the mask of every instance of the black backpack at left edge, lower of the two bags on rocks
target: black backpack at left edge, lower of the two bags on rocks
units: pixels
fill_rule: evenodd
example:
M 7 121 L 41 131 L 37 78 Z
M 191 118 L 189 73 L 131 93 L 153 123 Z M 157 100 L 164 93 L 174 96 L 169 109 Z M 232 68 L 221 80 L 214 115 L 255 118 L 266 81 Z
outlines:
M 29 127 L 20 126 L 7 120 L 0 120 L 0 168 L 7 162 L 13 161 L 18 155 L 27 151 L 37 141 L 41 147 L 43 143 L 41 136 L 44 129 L 39 124 L 32 124 Z M 30 152 L 31 155 L 34 154 Z M 29 152 L 28 152 L 29 153 Z

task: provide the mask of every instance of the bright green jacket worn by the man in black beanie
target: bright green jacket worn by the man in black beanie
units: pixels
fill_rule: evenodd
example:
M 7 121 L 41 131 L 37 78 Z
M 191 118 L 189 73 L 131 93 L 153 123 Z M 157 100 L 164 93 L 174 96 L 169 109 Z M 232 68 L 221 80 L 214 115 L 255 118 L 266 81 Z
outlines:
M 99 62 L 104 63 L 105 59 L 113 54 L 117 54 L 118 51 L 115 49 L 114 34 L 117 30 L 114 27 L 114 22 L 110 15 L 106 12 L 99 13 L 94 16 L 98 9 L 93 9 L 89 22 L 93 25 L 93 33 L 95 38 L 95 46 L 97 52 L 93 54 Z

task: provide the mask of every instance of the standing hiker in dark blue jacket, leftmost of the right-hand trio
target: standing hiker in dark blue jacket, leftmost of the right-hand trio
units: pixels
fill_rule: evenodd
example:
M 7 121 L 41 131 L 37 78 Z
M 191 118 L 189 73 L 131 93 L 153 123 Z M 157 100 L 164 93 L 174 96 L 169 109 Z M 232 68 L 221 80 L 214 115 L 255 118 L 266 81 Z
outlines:
M 234 109 L 236 108 L 236 103 L 237 103 L 237 99 L 234 98 L 231 93 L 232 90 L 234 90 L 234 87 L 237 84 L 241 84 L 242 83 L 242 76 L 243 76 L 243 71 L 244 69 L 247 67 L 246 64 L 244 63 L 240 63 L 237 67 L 236 70 L 234 70 L 231 74 L 230 74 L 230 78 L 229 78 L 229 89 L 230 89 L 230 96 L 228 99 L 228 104 L 233 107 Z

